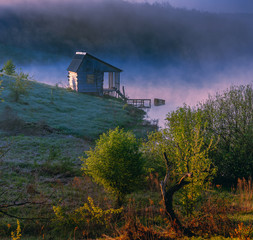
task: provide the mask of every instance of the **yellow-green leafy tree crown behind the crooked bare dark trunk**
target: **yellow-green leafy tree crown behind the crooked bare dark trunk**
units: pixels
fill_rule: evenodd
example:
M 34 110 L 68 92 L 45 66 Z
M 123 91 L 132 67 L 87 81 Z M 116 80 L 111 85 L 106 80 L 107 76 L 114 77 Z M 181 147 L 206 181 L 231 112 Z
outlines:
M 165 174 L 163 153 L 169 159 L 170 183 L 179 182 L 185 173 L 193 173 L 191 184 L 184 187 L 179 202 L 188 214 L 201 197 L 215 173 L 208 154 L 214 148 L 213 138 L 206 134 L 203 113 L 184 106 L 167 115 L 167 128 L 149 135 L 144 144 L 147 167 Z

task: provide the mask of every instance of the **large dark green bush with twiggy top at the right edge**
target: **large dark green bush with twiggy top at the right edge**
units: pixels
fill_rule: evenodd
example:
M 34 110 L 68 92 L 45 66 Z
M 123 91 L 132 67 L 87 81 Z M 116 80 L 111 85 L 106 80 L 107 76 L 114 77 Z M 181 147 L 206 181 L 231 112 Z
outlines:
M 200 104 L 209 134 L 219 136 L 212 158 L 219 183 L 236 184 L 253 172 L 253 88 L 232 86 Z

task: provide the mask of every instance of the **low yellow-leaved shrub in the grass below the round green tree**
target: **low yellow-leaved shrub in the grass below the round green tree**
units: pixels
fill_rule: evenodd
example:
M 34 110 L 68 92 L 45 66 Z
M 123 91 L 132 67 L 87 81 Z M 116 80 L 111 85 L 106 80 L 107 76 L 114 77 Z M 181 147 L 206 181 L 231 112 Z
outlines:
M 53 210 L 55 213 L 54 221 L 58 228 L 75 227 L 76 230 L 84 231 L 86 237 L 88 237 L 90 234 L 98 235 L 101 230 L 103 231 L 106 227 L 109 227 L 111 219 L 119 215 L 123 209 L 110 208 L 103 210 L 94 204 L 91 197 L 88 197 L 88 203 L 84 203 L 82 207 L 74 211 L 67 212 L 60 206 L 53 206 Z M 96 230 L 96 232 L 91 232 L 93 230 Z

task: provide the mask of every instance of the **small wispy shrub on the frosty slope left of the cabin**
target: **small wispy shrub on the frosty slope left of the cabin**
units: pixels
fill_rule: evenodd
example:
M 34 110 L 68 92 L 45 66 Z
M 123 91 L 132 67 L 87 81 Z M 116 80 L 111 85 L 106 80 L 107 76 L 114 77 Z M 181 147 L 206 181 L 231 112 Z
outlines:
M 21 95 L 28 95 L 31 89 L 32 82 L 28 80 L 29 74 L 23 73 L 22 71 L 18 73 L 17 77 L 10 84 L 11 96 L 15 102 L 18 102 Z

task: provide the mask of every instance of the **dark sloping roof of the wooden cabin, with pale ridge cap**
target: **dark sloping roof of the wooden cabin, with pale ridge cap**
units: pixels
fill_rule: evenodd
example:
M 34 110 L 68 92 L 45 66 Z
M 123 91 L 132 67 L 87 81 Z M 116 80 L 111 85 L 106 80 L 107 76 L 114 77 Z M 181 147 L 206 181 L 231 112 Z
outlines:
M 71 71 L 71 72 L 77 72 L 86 56 L 91 57 L 91 58 L 95 59 L 96 61 L 99 61 L 99 62 L 107 65 L 108 67 L 115 69 L 115 72 L 122 72 L 121 69 L 114 67 L 113 65 L 106 63 L 106 62 L 102 61 L 101 59 L 96 58 L 87 52 L 76 52 L 76 54 L 73 57 L 72 62 L 70 63 L 67 70 Z

